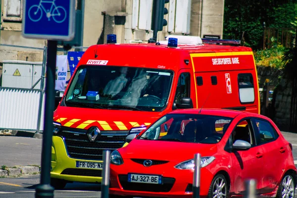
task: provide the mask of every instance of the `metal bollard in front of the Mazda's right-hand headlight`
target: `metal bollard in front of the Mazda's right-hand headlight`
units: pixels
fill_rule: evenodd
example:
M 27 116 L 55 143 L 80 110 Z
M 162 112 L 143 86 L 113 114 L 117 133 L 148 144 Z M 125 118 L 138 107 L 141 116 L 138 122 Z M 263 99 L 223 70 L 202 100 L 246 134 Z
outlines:
M 200 197 L 200 163 L 201 155 L 196 153 L 194 155 L 194 176 L 193 176 L 193 198 Z

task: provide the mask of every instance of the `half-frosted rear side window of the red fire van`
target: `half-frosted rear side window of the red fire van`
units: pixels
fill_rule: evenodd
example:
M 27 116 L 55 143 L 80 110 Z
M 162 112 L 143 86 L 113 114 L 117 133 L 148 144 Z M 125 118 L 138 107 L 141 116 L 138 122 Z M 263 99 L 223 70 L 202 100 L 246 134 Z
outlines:
M 253 78 L 250 73 L 238 74 L 239 99 L 241 103 L 255 101 Z

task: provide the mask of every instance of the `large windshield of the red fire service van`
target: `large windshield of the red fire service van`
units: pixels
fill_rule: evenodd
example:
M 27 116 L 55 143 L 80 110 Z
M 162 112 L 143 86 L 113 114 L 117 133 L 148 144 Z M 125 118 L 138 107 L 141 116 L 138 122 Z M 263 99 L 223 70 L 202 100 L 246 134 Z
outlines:
M 83 65 L 73 78 L 65 105 L 161 111 L 167 105 L 172 79 L 171 70 Z

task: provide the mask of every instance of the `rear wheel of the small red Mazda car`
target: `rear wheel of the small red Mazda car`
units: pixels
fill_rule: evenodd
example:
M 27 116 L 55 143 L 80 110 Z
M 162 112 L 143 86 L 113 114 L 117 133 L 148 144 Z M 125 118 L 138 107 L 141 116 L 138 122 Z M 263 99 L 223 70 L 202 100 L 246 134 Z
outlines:
M 294 198 L 295 196 L 295 180 L 290 174 L 286 174 L 277 190 L 276 198 L 282 198 L 284 194 L 289 195 L 289 198 Z M 286 196 L 287 197 L 287 196 Z

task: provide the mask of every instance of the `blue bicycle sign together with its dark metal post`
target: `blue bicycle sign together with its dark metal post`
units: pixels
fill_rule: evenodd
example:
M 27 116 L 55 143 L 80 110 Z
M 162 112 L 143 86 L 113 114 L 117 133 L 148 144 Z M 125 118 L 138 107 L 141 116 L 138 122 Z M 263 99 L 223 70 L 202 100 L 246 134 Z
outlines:
M 50 160 L 57 40 L 72 40 L 75 34 L 74 26 L 75 0 L 23 0 L 23 37 L 48 40 L 41 179 L 40 185 L 36 188 L 36 198 L 53 198 L 54 189 L 50 186 Z

